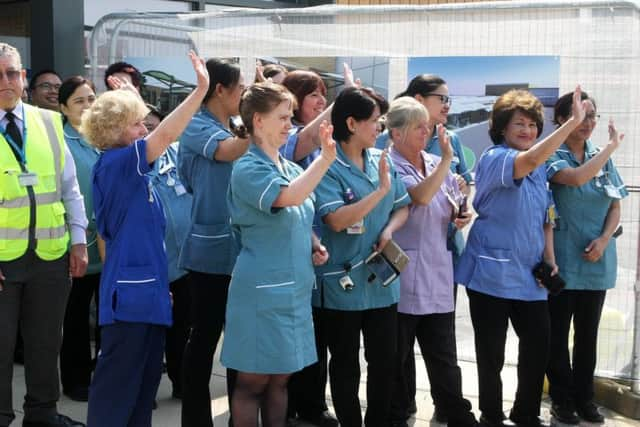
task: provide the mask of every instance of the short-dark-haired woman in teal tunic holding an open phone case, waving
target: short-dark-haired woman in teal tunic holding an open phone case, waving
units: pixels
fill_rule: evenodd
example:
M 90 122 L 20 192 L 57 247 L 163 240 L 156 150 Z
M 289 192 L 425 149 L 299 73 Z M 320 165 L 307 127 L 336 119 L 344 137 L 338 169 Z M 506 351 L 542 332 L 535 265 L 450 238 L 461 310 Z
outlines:
M 331 121 L 338 157 L 316 190 L 323 244 L 331 254 L 316 268 L 313 304 L 322 311 L 331 353 L 331 395 L 343 426 L 362 425 L 360 334 L 367 360 L 365 425 L 391 423 L 396 353 L 398 278 L 383 283 L 365 260 L 381 250 L 408 217 L 410 198 L 386 152 L 373 148 L 387 102 L 368 89 L 347 88 Z

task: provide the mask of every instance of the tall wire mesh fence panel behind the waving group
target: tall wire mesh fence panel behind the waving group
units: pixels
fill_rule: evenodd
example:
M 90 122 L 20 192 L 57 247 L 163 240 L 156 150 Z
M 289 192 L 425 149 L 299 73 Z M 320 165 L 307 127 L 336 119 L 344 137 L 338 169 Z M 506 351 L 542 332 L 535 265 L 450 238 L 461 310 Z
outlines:
M 626 135 L 614 161 L 632 191 L 622 205 L 618 281 L 605 303 L 597 372 L 638 380 L 633 361 L 640 215 L 640 149 L 635 144 L 640 136 L 639 3 L 514 1 L 107 15 L 91 36 L 89 75 L 99 83 L 108 64 L 129 58 L 170 65 L 184 61 L 190 48 L 205 57 L 237 58 L 248 81 L 256 58 L 292 67 L 309 63 L 305 58 L 316 58 L 316 65 L 325 58 L 325 71 L 338 76 L 347 61 L 366 85 L 388 97 L 406 87 L 410 58 L 557 57 L 559 93 L 582 85 L 597 101 L 600 115 L 615 118 Z M 606 143 L 607 126 L 596 127 L 592 139 Z M 458 354 L 473 360 L 468 307 L 463 292 L 459 297 Z M 512 332 L 507 346 L 506 360 L 514 363 Z

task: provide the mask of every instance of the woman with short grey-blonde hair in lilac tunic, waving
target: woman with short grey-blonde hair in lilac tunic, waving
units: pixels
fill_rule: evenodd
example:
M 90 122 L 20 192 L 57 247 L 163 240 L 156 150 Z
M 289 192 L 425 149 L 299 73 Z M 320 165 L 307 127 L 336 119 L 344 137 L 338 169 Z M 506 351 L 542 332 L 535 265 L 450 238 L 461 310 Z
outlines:
M 457 364 L 453 264 L 447 251 L 447 229 L 452 218 L 456 227 L 462 228 L 471 216 L 456 218 L 463 194 L 449 169 L 453 149 L 442 125 L 437 128 L 442 157 L 424 151 L 425 141 L 431 136 L 428 123 L 427 110 L 411 97 L 396 99 L 387 113 L 386 124 L 393 141 L 391 159 L 412 201 L 409 219 L 394 234 L 411 261 L 400 275 L 393 421 L 394 425 L 407 425 L 407 378 L 401 367 L 417 338 L 437 412 L 449 423 L 472 426 L 476 419 L 471 404 L 462 397 Z

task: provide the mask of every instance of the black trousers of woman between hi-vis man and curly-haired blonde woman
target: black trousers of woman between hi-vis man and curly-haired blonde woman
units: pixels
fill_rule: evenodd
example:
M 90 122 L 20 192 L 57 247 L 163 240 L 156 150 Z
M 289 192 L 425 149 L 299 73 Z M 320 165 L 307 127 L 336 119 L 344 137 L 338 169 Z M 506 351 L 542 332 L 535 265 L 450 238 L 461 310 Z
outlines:
M 87 388 L 91 383 L 93 355 L 91 353 L 91 332 L 89 309 L 91 300 L 99 304 L 100 273 L 74 278 L 67 302 L 62 329 L 62 348 L 60 349 L 60 380 L 62 389 L 71 392 L 77 388 Z M 97 313 L 96 313 L 97 314 Z M 96 316 L 97 317 L 97 316 Z M 100 328 L 96 325 L 95 353 L 100 350 Z

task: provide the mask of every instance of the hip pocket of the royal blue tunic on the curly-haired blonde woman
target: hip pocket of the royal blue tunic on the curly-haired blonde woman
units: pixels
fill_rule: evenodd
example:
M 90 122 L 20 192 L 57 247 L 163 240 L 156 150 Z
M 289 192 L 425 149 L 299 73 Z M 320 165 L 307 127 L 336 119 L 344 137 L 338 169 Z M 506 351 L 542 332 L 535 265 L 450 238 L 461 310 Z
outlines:
M 113 318 L 123 322 L 150 322 L 159 290 L 151 266 L 125 267 L 112 293 Z

